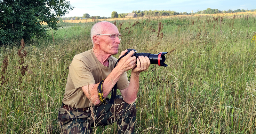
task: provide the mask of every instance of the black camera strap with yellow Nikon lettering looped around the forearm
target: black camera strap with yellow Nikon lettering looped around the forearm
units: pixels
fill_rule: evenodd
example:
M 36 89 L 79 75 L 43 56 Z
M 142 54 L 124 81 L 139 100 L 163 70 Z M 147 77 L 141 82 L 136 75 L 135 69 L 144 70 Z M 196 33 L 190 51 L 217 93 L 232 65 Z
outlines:
M 119 60 L 120 60 L 121 58 L 123 58 L 124 56 L 125 56 L 125 55 L 121 56 L 121 57 L 116 61 L 116 64 L 117 64 L 117 63 L 119 62 Z M 115 64 L 114 68 L 116 67 L 116 64 Z M 98 85 L 98 96 L 99 96 L 99 99 L 100 99 L 100 101 L 101 101 L 103 104 L 113 104 L 114 101 L 115 101 L 115 98 L 116 98 L 117 83 L 116 83 L 115 86 L 112 88 L 112 90 L 111 90 L 111 98 L 110 98 L 109 102 L 107 103 L 107 102 L 104 100 L 104 97 L 103 97 L 103 90 L 102 90 L 102 84 L 103 84 L 103 81 L 104 81 L 104 80 L 105 80 L 105 78 L 102 79 L 102 80 L 100 81 L 100 84 Z

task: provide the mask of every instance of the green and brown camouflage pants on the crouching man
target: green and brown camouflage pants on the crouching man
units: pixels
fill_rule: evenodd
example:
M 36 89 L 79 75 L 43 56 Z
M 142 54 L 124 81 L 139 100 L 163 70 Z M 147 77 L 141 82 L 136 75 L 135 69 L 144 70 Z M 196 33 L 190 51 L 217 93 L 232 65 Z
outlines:
M 93 114 L 93 115 L 92 115 Z M 93 119 L 93 117 L 94 119 Z M 136 121 L 136 106 L 129 105 L 123 98 L 113 104 L 100 104 L 87 111 L 60 108 L 58 122 L 62 134 L 91 134 L 95 126 L 117 122 L 118 134 L 133 134 Z

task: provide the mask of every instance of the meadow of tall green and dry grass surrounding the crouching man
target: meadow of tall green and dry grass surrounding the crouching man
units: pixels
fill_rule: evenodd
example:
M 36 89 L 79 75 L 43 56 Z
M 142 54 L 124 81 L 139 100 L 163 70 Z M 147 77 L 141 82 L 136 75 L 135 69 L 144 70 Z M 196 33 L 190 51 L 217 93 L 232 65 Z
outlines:
M 168 67 L 152 64 L 140 75 L 135 133 L 255 134 L 255 19 L 254 13 L 111 21 L 122 34 L 119 54 L 168 52 Z M 49 29 L 51 36 L 1 48 L 0 133 L 60 133 L 68 66 L 92 48 L 95 23 L 61 22 L 66 28 Z M 116 124 L 93 129 L 103 132 L 116 133 Z

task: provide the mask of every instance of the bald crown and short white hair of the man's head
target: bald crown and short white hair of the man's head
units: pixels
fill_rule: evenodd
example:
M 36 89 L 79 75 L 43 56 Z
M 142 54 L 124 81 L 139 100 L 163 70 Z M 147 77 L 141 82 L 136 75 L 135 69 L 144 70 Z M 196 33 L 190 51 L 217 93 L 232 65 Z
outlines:
M 101 21 L 94 24 L 91 29 L 91 39 L 96 34 L 107 34 L 108 29 L 113 26 L 116 27 L 114 24 L 108 21 Z M 92 40 L 92 46 L 94 46 L 93 40 Z

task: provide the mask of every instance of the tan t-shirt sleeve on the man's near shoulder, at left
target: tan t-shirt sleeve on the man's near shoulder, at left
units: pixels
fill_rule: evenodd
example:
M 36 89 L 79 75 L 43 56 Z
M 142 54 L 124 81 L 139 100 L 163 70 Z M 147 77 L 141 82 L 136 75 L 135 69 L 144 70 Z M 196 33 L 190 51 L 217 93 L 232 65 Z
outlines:
M 73 59 L 69 66 L 69 74 L 75 88 L 95 84 L 90 69 L 79 59 Z

